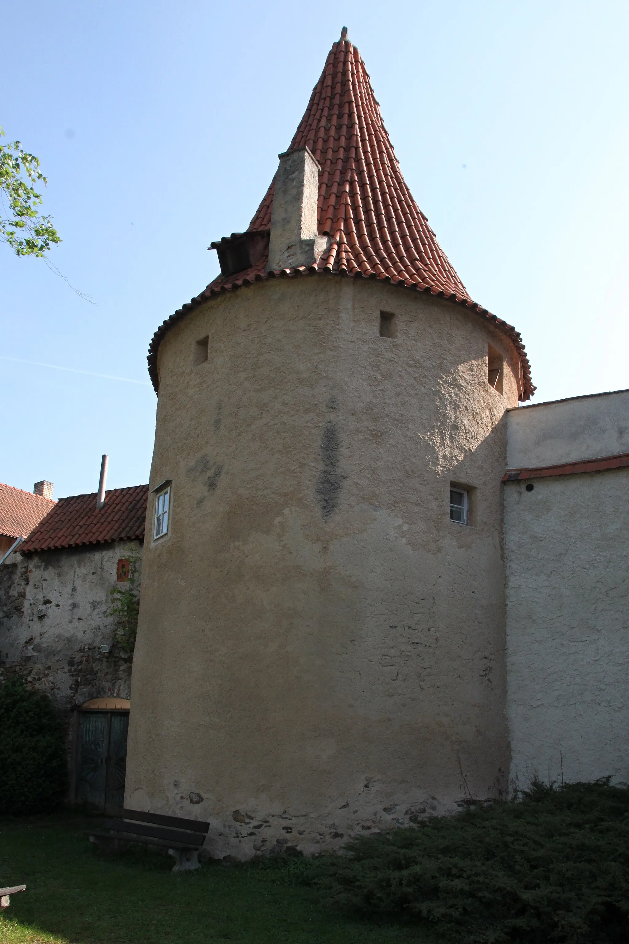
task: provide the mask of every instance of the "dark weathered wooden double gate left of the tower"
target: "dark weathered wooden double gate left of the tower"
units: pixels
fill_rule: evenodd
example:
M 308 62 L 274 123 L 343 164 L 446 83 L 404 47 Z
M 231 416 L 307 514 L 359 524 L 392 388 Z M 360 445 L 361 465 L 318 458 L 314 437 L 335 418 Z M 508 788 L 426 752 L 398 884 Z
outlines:
M 111 701 L 83 705 L 75 729 L 75 800 L 108 813 L 124 806 L 127 769 L 128 710 L 110 708 Z M 94 703 L 97 707 L 91 707 Z

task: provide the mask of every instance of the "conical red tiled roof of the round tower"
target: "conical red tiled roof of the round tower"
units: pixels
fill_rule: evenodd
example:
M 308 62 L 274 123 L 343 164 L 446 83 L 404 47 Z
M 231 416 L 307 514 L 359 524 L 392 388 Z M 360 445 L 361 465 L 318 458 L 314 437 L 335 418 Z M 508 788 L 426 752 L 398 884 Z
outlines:
M 437 243 L 432 228 L 410 193 L 382 121 L 365 63 L 344 29 L 331 47 L 325 67 L 288 150 L 307 146 L 321 166 L 318 231 L 330 247 L 310 267 L 265 272 L 268 253 L 235 276 L 220 275 L 190 304 L 171 315 L 153 336 L 148 370 L 157 391 L 157 351 L 174 323 L 212 295 L 266 278 L 334 273 L 378 278 L 402 288 L 440 295 L 488 319 L 507 335 L 521 362 L 522 392 L 535 391 L 531 368 L 519 332 L 487 312 L 467 295 L 461 279 Z M 268 230 L 274 181 L 248 231 Z

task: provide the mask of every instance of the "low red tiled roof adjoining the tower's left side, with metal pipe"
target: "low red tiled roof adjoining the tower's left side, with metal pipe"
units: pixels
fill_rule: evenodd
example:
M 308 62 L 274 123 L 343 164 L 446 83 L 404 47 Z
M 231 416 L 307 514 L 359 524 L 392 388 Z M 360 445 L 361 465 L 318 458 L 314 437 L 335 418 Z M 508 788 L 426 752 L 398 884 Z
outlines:
M 142 541 L 147 498 L 148 485 L 110 489 L 105 493 L 103 508 L 96 508 L 95 492 L 59 498 L 20 550 L 27 553 L 110 541 Z

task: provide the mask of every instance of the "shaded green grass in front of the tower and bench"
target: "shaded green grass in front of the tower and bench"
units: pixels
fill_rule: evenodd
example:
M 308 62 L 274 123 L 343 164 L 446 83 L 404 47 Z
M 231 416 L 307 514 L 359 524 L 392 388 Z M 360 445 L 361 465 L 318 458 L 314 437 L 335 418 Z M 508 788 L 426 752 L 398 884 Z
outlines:
M 0 916 L 0 944 L 429 944 L 413 927 L 332 913 L 273 869 L 215 863 L 173 874 L 135 847 L 94 848 L 93 820 L 0 818 L 0 886 L 26 883 Z

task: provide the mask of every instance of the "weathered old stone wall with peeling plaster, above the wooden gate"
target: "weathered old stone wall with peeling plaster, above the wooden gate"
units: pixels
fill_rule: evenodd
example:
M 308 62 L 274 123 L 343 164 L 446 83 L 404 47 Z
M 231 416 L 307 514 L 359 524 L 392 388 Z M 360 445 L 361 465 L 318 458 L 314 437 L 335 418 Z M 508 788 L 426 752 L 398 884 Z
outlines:
M 14 553 L 0 565 L 0 681 L 18 674 L 62 711 L 128 698 L 131 658 L 106 614 L 117 561 L 129 554 L 141 556 L 138 542 Z

